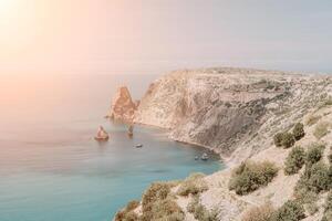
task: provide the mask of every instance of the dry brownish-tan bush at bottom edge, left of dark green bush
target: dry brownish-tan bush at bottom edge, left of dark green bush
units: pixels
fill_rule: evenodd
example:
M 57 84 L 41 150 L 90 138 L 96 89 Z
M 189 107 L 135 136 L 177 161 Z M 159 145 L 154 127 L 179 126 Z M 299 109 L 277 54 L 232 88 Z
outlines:
M 248 210 L 241 221 L 270 221 L 274 212 L 271 203 L 266 203 L 261 207 L 255 207 Z

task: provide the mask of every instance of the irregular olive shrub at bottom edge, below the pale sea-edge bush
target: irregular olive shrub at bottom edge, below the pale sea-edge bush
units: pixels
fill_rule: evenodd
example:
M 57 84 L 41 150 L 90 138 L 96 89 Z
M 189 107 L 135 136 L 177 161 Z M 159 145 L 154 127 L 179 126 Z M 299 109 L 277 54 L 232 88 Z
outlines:
M 194 218 L 198 221 L 218 221 L 217 210 L 207 210 L 199 202 L 198 196 L 195 196 L 189 204 L 187 206 L 187 211 L 194 214 Z

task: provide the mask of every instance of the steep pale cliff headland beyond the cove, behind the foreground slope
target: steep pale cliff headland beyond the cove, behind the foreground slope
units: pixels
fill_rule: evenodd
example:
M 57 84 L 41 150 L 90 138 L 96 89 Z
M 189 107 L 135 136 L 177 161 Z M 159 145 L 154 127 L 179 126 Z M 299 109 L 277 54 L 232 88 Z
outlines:
M 290 107 L 313 106 L 325 91 L 325 81 L 247 69 L 177 71 L 149 86 L 134 120 L 169 128 L 175 140 L 230 157 L 241 144 L 255 140 L 253 135 L 267 124 L 274 124 L 274 129 L 288 127 L 287 123 L 278 125 L 278 115 L 291 112 Z M 290 117 L 303 114 L 302 109 Z M 247 157 L 257 148 L 257 143 L 248 145 Z

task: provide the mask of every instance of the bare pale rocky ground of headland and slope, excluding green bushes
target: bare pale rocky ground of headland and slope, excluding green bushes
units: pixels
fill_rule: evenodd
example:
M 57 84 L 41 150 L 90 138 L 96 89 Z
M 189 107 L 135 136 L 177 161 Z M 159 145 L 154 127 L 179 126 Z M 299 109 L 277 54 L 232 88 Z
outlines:
M 131 211 L 133 220 L 138 220 L 135 215 L 142 211 L 141 220 L 159 220 L 155 217 L 144 219 L 147 211 L 156 212 L 155 208 L 159 208 L 158 211 L 165 208 L 172 211 L 166 220 L 242 220 L 252 207 L 269 203 L 271 210 L 277 210 L 288 200 L 295 199 L 294 188 L 299 186 L 301 173 L 309 176 L 308 170 L 318 162 L 309 166 L 305 161 L 305 167 L 300 171 L 286 175 L 284 162 L 294 146 L 303 147 L 308 155 L 313 146 L 323 145 L 325 148 L 320 161 L 329 164 L 332 143 L 331 83 L 332 78 L 323 75 L 229 67 L 177 71 L 152 83 L 135 112 L 134 122 L 167 128 L 169 137 L 175 140 L 197 144 L 219 152 L 228 169 L 204 178 L 198 176 L 178 183 L 167 183 L 167 187 L 164 185 L 163 191 L 169 188 L 165 199 L 147 203 L 146 196 L 160 190 L 156 188 L 152 191 L 151 188 L 145 192 L 143 203 Z M 292 147 L 276 147 L 273 136 L 292 131 L 297 123 L 304 125 L 305 136 Z M 239 194 L 237 189 L 234 191 L 230 188 L 230 180 L 235 176 L 235 168 L 243 160 L 253 164 L 268 160 L 277 172 L 262 187 Z M 249 166 L 247 170 L 253 177 L 259 173 L 250 173 Z M 246 180 L 240 181 L 243 185 Z M 195 187 L 200 182 L 204 188 Z M 253 181 L 253 185 L 257 183 Z M 188 190 L 189 193 L 184 194 L 180 190 L 185 186 L 197 191 Z M 315 192 L 319 198 L 314 201 L 301 202 L 305 209 L 304 220 L 322 219 L 329 188 Z M 173 202 L 176 202 L 176 207 L 169 208 Z M 193 207 L 194 202 L 197 207 Z M 191 204 L 191 210 L 188 204 Z M 309 208 L 313 204 L 314 212 Z M 195 208 L 206 218 L 194 215 Z M 208 215 L 212 212 L 214 219 L 211 214 Z M 117 217 L 117 220 L 129 219 Z

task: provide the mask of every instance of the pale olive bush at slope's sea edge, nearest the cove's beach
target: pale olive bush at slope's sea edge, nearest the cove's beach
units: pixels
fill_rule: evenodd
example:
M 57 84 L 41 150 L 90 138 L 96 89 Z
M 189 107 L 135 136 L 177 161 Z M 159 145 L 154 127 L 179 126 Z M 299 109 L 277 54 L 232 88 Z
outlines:
M 203 179 L 205 175 L 203 173 L 194 173 L 189 176 L 185 181 L 180 185 L 177 190 L 179 196 L 188 196 L 188 194 L 197 194 L 208 190 L 208 187 Z

